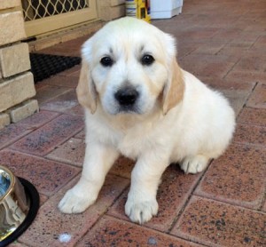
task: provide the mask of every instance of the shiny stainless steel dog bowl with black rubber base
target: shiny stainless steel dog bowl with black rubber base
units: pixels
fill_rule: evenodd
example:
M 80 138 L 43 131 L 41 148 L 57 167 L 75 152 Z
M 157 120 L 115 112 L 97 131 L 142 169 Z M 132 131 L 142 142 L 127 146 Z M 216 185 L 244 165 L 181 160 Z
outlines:
M 0 246 L 12 243 L 26 230 L 38 206 L 35 187 L 0 165 Z

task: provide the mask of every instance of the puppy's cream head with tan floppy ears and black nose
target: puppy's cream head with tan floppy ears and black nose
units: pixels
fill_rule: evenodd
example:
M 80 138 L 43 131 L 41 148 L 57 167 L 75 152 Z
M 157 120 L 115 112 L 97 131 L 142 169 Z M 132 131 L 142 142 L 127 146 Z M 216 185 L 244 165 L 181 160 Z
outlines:
M 175 40 L 143 20 L 109 22 L 82 46 L 78 100 L 91 113 L 166 114 L 182 100 Z

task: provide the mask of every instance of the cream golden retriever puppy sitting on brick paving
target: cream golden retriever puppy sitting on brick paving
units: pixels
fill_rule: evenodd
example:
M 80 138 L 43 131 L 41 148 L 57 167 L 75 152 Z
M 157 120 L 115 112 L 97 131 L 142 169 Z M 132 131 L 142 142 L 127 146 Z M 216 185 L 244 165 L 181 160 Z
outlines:
M 86 152 L 82 177 L 60 211 L 78 213 L 94 203 L 122 154 L 136 160 L 125 211 L 142 224 L 157 214 L 157 188 L 169 163 L 197 173 L 229 145 L 230 104 L 178 66 L 175 43 L 153 25 L 126 17 L 83 44 L 77 96 L 85 109 Z

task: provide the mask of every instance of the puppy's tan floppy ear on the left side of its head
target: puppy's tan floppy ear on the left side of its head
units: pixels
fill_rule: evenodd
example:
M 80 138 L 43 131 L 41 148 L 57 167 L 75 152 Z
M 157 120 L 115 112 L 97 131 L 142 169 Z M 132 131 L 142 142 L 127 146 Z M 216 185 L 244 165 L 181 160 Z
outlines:
M 84 59 L 76 94 L 82 107 L 89 108 L 91 114 L 94 114 L 97 108 L 97 92 L 90 76 L 89 64 Z

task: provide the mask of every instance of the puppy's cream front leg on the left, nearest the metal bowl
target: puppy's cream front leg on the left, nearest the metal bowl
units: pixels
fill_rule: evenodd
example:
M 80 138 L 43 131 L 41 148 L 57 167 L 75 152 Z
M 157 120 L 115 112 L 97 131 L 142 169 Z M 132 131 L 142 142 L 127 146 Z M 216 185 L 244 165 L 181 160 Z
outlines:
M 110 170 L 118 152 L 102 144 L 86 146 L 82 177 L 79 182 L 66 192 L 59 203 L 59 210 L 65 213 L 85 211 L 98 197 L 106 173 Z

